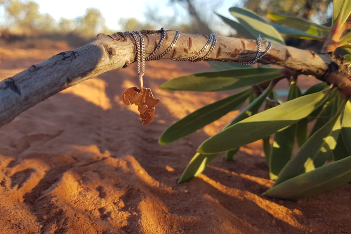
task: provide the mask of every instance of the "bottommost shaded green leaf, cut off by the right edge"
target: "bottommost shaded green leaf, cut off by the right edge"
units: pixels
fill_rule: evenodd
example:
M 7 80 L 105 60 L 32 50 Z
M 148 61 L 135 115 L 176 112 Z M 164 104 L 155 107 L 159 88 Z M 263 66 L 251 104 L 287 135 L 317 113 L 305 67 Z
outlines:
M 351 156 L 279 183 L 262 195 L 296 200 L 330 190 L 349 181 L 351 181 Z

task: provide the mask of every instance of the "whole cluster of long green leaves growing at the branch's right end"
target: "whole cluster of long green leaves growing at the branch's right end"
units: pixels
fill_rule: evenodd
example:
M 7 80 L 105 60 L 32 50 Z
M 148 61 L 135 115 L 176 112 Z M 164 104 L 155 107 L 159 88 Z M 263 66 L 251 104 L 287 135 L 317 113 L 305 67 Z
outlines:
M 334 4 L 334 22 L 347 22 L 350 4 L 343 0 Z M 235 19 L 217 15 L 249 39 L 261 36 L 284 45 L 285 35 L 325 41 L 331 33 L 328 27 L 285 14 L 267 14 L 274 21 L 269 23 L 244 8 L 232 7 L 229 11 Z M 345 33 L 340 38 L 339 47 L 351 45 L 350 35 L 350 32 Z M 351 61 L 351 55 L 345 55 L 345 59 Z M 270 178 L 275 180 L 263 194 L 265 196 L 299 199 L 351 181 L 351 102 L 348 97 L 325 82 L 302 92 L 297 75 L 286 76 L 280 68 L 244 67 L 229 62 L 210 62 L 210 65 L 217 71 L 181 76 L 165 82 L 161 88 L 197 92 L 245 89 L 234 91 L 227 98 L 177 121 L 164 131 L 159 143 L 183 138 L 238 110 L 245 102 L 249 104 L 198 147 L 179 183 L 203 172 L 220 153 L 225 153 L 227 160 L 233 160 L 241 146 L 260 139 Z M 277 81 L 283 78 L 289 81 L 285 102 L 278 100 L 274 91 Z M 264 111 L 259 112 L 261 109 Z M 298 150 L 295 153 L 293 149 Z

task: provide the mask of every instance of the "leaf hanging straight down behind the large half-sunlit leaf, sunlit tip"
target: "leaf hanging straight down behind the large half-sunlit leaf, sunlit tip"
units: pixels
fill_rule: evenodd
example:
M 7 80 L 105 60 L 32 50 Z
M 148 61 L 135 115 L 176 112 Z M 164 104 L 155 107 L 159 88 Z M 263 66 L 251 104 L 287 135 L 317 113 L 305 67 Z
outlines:
M 291 81 L 287 100 L 293 100 L 301 95 L 296 81 Z M 274 135 L 271 154 L 269 156 L 269 176 L 276 180 L 279 172 L 290 160 L 295 141 L 296 124 L 279 130 Z

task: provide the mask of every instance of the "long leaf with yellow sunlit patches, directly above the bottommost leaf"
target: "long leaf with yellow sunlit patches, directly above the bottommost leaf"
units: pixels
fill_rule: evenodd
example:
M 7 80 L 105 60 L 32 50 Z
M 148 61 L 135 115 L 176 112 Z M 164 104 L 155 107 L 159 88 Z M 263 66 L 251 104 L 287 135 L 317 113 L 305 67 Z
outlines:
M 335 137 L 334 132 L 340 131 L 340 114 L 342 111 L 343 107 L 339 106 L 338 112 L 304 143 L 296 155 L 280 171 L 273 186 L 304 172 L 314 170 L 316 167 L 313 163 L 321 148 L 335 148 L 337 136 Z

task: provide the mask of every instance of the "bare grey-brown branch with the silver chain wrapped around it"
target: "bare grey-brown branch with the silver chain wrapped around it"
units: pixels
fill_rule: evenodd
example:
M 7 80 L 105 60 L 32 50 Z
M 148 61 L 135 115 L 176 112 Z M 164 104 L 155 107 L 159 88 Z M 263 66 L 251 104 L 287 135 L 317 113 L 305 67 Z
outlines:
M 145 55 L 148 56 L 160 40 L 160 31 L 141 33 L 145 40 Z M 166 38 L 158 54 L 167 49 L 174 35 L 175 31 L 166 32 Z M 205 35 L 180 34 L 173 49 L 161 59 L 188 58 L 200 51 L 206 42 Z M 267 45 L 268 42 L 262 43 L 262 51 Z M 218 36 L 216 47 L 206 61 L 250 61 L 254 59 L 256 53 L 255 40 Z M 63 89 L 94 78 L 101 73 L 128 67 L 135 61 L 135 54 L 135 42 L 130 35 L 99 34 L 85 46 L 54 55 L 42 63 L 32 65 L 25 71 L 1 81 L 0 126 Z M 316 54 L 308 50 L 274 44 L 269 53 L 260 60 L 260 63 L 284 66 L 299 74 L 314 75 L 318 79 L 325 80 L 324 78 L 328 77 L 328 81 L 338 79 L 333 77 L 339 77 L 340 74 L 350 74 L 350 70 L 343 62 L 328 54 Z M 343 79 L 342 83 L 343 87 L 351 87 L 351 81 L 348 79 Z M 351 96 L 350 88 L 344 88 L 344 90 L 347 91 L 346 95 Z

